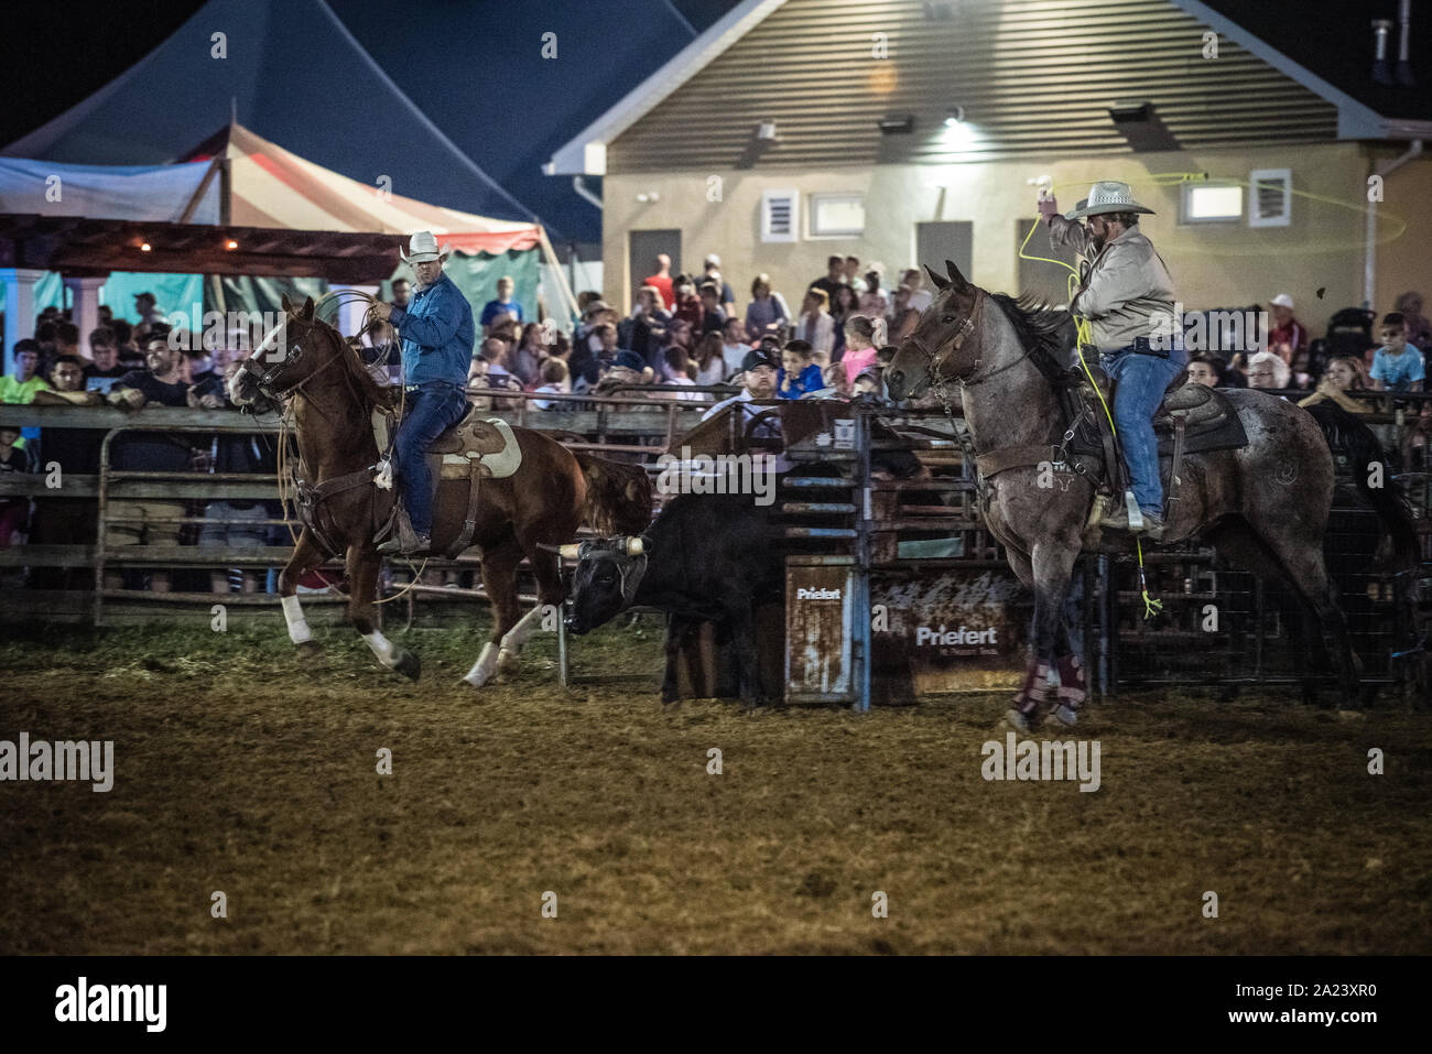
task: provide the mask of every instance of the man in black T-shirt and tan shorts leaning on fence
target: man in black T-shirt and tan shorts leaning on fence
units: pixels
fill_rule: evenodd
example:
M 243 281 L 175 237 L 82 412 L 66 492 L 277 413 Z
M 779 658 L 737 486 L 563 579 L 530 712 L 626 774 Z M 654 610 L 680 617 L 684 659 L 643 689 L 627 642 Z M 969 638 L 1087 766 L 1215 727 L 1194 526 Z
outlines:
M 168 334 L 152 337 L 145 345 L 145 368 L 132 369 L 115 381 L 106 401 L 123 410 L 145 407 L 188 407 L 189 385 L 180 378 L 183 351 L 170 348 Z M 179 434 L 155 431 L 120 432 L 110 441 L 110 467 L 127 473 L 185 473 L 189 471 L 192 451 Z M 162 481 L 149 481 L 159 487 Z M 105 517 L 106 548 L 127 546 L 178 546 L 176 523 L 185 514 L 185 503 L 168 498 L 110 498 Z M 120 589 L 120 571 L 105 573 L 105 589 Z M 150 573 L 149 587 L 155 593 L 169 591 L 169 571 Z

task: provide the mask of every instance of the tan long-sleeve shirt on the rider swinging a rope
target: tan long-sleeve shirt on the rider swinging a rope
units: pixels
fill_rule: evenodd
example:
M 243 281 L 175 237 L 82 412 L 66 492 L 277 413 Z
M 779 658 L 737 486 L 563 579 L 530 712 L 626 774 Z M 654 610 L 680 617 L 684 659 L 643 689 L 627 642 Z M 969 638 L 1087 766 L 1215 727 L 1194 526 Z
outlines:
M 1050 243 L 1071 246 L 1088 259 L 1094 238 L 1083 223 L 1055 215 L 1050 219 Z M 1088 318 L 1090 338 L 1103 352 L 1127 348 L 1136 337 L 1153 339 L 1167 332 L 1173 309 L 1169 268 L 1137 226 L 1094 253 L 1070 301 L 1070 311 Z

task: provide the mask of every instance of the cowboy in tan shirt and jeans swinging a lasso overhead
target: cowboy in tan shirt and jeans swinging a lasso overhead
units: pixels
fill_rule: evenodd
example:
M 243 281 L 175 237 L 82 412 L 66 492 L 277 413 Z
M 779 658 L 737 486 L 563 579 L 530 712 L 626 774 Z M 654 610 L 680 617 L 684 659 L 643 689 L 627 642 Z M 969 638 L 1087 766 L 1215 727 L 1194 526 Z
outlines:
M 1153 415 L 1164 388 L 1187 365 L 1187 355 L 1181 334 L 1173 335 L 1171 349 L 1170 342 L 1151 339 L 1160 331 L 1158 316 L 1169 318 L 1174 311 L 1169 268 L 1138 231 L 1138 213 L 1151 215 L 1153 209 L 1133 199 L 1128 183 L 1113 180 L 1094 183 L 1088 198 L 1063 216 L 1053 195 L 1041 195 L 1038 208 L 1040 219 L 1050 228 L 1050 242 L 1073 246 L 1088 261 L 1070 311 L 1088 318 L 1100 365 L 1118 384 L 1114 427 L 1143 513 L 1143 528 L 1137 533 L 1157 541 L 1164 528 L 1164 495 Z M 1088 226 L 1078 222 L 1084 216 Z M 1114 507 L 1104 526 L 1130 530 L 1121 506 Z

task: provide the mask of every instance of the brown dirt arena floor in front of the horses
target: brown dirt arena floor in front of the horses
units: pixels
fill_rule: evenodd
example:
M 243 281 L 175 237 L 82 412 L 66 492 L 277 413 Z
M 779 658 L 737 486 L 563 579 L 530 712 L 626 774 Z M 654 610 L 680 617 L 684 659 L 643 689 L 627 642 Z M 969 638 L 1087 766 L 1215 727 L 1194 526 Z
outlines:
M 558 687 L 548 636 L 481 695 L 471 633 L 411 685 L 315 632 L 9 634 L 0 739 L 116 775 L 0 785 L 0 954 L 1432 952 L 1426 712 L 1128 695 L 1081 793 L 982 779 L 1002 697 L 663 709 L 654 620 L 574 644 L 634 680 Z

